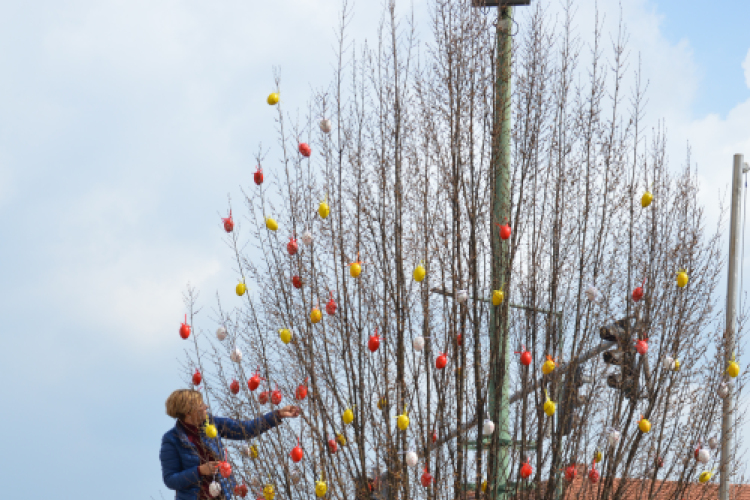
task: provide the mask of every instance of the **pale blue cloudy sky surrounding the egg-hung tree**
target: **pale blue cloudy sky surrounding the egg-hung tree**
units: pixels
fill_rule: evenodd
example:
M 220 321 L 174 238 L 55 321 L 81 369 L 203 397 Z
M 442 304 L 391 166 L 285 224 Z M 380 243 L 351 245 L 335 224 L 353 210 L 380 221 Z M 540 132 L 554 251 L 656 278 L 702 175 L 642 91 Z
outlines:
M 732 155 L 750 156 L 750 3 L 622 3 L 647 119 L 664 120 L 675 167 L 691 144 L 715 218 Z M 577 4 L 586 39 L 594 2 Z M 381 5 L 355 2 L 358 43 Z M 414 0 L 423 33 L 427 5 Z M 610 27 L 618 5 L 598 3 Z M 286 109 L 302 109 L 331 79 L 339 10 L 0 1 L 4 497 L 173 497 L 158 451 L 164 400 L 182 386 L 182 293 L 202 291 L 196 327 L 213 331 L 214 298 L 236 281 L 219 217 L 251 182 L 258 144 L 275 144 L 273 68 Z

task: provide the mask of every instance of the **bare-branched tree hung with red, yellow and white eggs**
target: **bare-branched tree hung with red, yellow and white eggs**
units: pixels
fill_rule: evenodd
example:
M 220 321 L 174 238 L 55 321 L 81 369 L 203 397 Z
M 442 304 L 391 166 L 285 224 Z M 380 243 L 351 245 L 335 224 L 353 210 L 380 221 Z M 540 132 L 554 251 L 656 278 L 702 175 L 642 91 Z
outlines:
M 304 122 L 286 114 L 276 76 L 278 145 L 254 159 L 244 206 L 230 200 L 217 228 L 236 299 L 217 301 L 215 336 L 190 336 L 189 290 L 180 330 L 186 376 L 213 413 L 302 408 L 230 444 L 249 494 L 552 499 L 580 465 L 591 498 L 634 484 L 615 478 L 676 481 L 675 498 L 701 473 L 713 480 L 717 389 L 731 378 L 720 232 L 689 158 L 670 169 L 664 131 L 643 131 L 624 29 L 605 51 L 597 20 L 589 47 L 572 11 L 569 0 L 553 25 L 529 9 L 500 107 L 497 13 L 456 0 L 432 4 L 428 41 L 391 1 L 375 49 L 349 44 L 344 5 L 333 83 Z M 639 484 L 643 498 L 659 493 Z

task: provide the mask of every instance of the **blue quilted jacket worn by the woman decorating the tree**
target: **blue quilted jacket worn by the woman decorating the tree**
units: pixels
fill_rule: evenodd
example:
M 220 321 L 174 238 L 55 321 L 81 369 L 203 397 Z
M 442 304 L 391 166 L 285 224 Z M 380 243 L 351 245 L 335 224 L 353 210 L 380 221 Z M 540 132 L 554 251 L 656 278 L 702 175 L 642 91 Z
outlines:
M 217 457 L 224 456 L 221 438 L 247 440 L 260 436 L 281 423 L 281 420 L 277 419 L 273 412 L 266 413 L 255 420 L 244 422 L 211 415 L 209 415 L 209 419 L 216 426 L 218 435 L 214 439 L 209 439 L 203 426 L 201 426 L 199 427 L 201 439 L 213 450 Z M 188 441 L 185 431 L 176 423 L 161 438 L 159 460 L 161 460 L 161 474 L 164 478 L 164 484 L 170 490 L 176 491 L 175 500 L 197 500 L 201 484 L 201 477 L 198 472 L 200 457 L 195 445 Z M 221 474 L 217 474 L 216 480 L 224 490 L 224 498 L 227 500 L 232 498 L 232 491 L 237 484 L 234 476 L 224 479 Z

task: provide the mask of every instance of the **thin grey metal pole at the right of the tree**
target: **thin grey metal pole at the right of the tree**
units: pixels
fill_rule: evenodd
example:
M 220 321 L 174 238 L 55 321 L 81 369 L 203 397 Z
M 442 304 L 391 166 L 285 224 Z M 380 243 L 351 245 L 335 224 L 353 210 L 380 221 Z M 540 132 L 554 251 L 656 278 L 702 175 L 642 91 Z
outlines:
M 737 329 L 737 285 L 740 269 L 740 235 L 742 203 L 742 155 L 734 155 L 732 172 L 732 208 L 729 221 L 729 266 L 727 276 L 727 316 L 724 330 L 724 366 L 732 359 L 735 349 L 735 332 Z M 734 384 L 729 385 L 729 395 L 724 398 L 721 417 L 721 462 L 719 465 L 719 500 L 729 500 L 729 476 L 732 465 L 734 438 L 732 420 L 734 417 Z

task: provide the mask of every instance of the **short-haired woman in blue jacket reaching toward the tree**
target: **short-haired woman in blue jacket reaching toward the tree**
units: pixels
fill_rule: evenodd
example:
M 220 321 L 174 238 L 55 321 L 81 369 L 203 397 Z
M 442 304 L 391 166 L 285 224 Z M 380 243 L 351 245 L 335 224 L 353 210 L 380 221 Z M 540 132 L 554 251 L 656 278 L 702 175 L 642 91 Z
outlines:
M 247 440 L 260 436 L 281 423 L 282 418 L 299 416 L 299 408 L 286 406 L 255 420 L 237 421 L 207 414 L 201 393 L 193 389 L 174 391 L 167 398 L 167 415 L 176 418 L 175 426 L 161 440 L 161 472 L 167 488 L 175 490 L 175 500 L 204 500 L 232 498 L 237 484 L 233 476 L 224 479 L 218 474 L 219 462 L 224 459 L 221 438 Z M 206 418 L 216 426 L 217 436 L 206 436 Z M 212 497 L 209 485 L 216 480 L 223 496 Z

